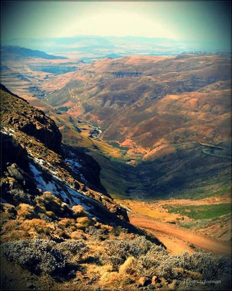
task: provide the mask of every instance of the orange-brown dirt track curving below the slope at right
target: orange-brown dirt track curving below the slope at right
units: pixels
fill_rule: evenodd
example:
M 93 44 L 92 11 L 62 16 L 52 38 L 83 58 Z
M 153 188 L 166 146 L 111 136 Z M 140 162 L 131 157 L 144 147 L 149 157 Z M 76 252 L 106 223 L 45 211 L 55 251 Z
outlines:
M 226 242 L 221 242 L 204 235 L 195 234 L 189 230 L 182 229 L 180 227 L 170 225 L 167 223 L 158 222 L 156 220 L 147 218 L 145 216 L 128 213 L 131 224 L 154 231 L 155 235 L 162 241 L 162 243 L 167 246 L 167 249 L 172 247 L 173 244 L 178 244 L 182 242 L 190 243 L 194 246 L 203 248 L 207 251 L 216 254 L 224 254 L 231 256 L 231 244 Z M 170 236 L 170 237 L 166 237 Z M 177 246 L 175 246 L 177 247 Z M 172 250 L 172 249 L 170 249 Z M 179 249 L 174 249 L 173 253 L 181 253 L 183 251 L 189 251 L 188 244 L 179 244 Z

